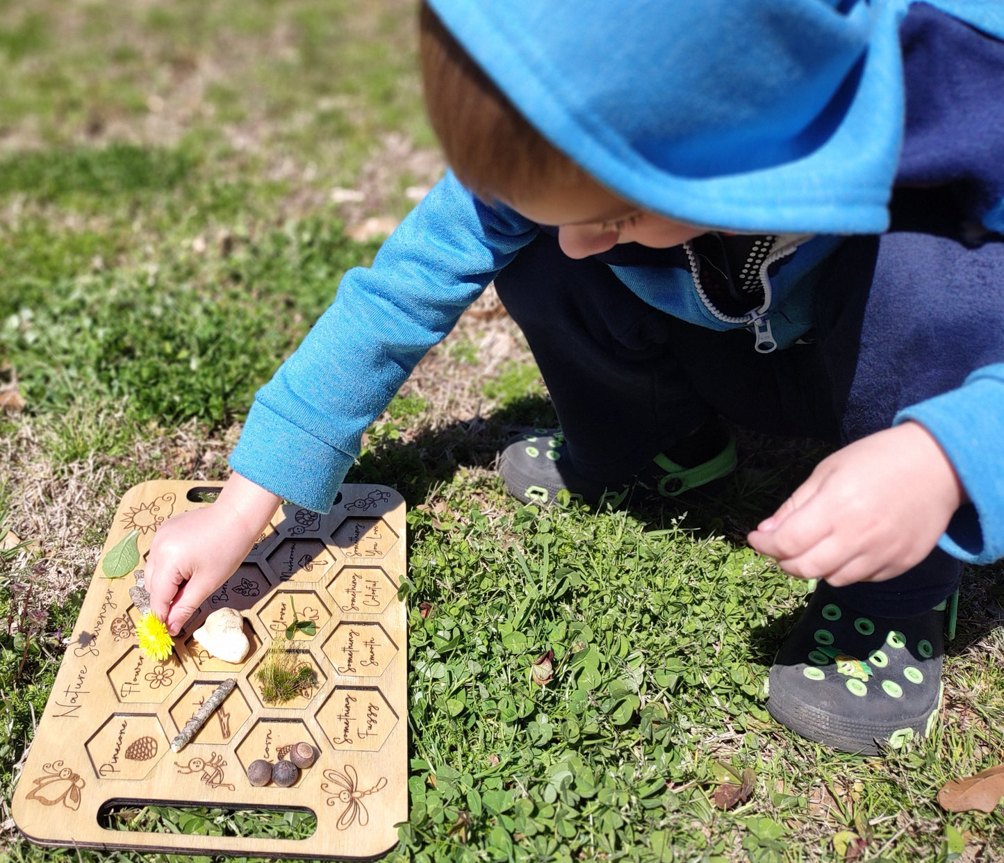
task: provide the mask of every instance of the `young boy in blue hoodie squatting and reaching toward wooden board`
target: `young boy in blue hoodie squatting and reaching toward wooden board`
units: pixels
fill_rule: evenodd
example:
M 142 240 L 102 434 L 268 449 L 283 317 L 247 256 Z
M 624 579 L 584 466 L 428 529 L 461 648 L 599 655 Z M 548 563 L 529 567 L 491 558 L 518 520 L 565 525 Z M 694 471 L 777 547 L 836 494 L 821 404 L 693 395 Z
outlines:
M 217 503 L 159 531 L 155 611 L 177 632 L 281 498 L 326 512 L 495 279 L 563 429 L 503 454 L 523 500 L 722 476 L 718 415 L 843 445 L 749 537 L 821 579 L 768 707 L 851 752 L 929 732 L 960 561 L 1004 555 L 1000 7 L 429 5 L 455 173 L 259 391 Z

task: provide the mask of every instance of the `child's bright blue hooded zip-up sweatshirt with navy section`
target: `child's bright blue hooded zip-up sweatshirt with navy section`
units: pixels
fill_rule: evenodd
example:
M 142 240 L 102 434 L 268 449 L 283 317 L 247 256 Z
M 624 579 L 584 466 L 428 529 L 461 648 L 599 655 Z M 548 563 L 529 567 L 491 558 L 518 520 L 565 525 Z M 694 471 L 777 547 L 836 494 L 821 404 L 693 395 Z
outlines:
M 799 244 L 771 278 L 771 309 L 743 321 L 709 315 L 685 267 L 655 275 L 613 268 L 643 300 L 693 323 L 787 321 L 774 335 L 780 347 L 790 344 L 807 326 L 799 310 L 818 265 L 838 235 L 888 228 L 894 185 L 954 184 L 977 233 L 1004 232 L 1004 106 L 992 95 L 1004 82 L 996 41 L 1004 39 L 1004 0 L 919 4 L 997 50 L 991 95 L 969 87 L 981 120 L 958 137 L 944 134 L 939 114 L 959 109 L 951 96 L 925 101 L 906 127 L 908 0 L 430 5 L 529 121 L 620 197 L 669 218 Z M 925 136 L 932 112 L 939 121 Z M 480 202 L 448 173 L 372 267 L 345 274 L 334 303 L 259 390 L 233 469 L 326 512 L 362 432 L 539 230 Z M 768 318 L 772 310 L 781 314 Z M 897 421 L 907 418 L 939 441 L 974 505 L 942 547 L 972 562 L 1004 556 L 1004 362 L 974 370 Z

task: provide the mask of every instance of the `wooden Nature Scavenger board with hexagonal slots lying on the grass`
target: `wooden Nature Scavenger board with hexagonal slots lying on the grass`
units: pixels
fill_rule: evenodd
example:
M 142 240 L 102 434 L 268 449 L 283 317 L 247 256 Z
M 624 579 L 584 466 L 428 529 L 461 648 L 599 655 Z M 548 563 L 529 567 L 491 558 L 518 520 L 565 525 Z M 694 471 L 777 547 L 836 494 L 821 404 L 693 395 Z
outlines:
M 199 506 L 205 483 L 143 483 L 122 498 L 103 555 L 139 531 L 143 560 L 158 527 Z M 133 575 L 91 579 L 13 800 L 21 832 L 41 845 L 170 853 L 351 859 L 379 856 L 408 818 L 408 645 L 397 591 L 405 575 L 405 505 L 381 486 L 343 486 L 329 515 L 280 507 L 240 569 L 150 659 L 137 646 Z M 292 619 L 315 672 L 292 700 L 262 701 L 254 671 Z M 251 652 L 210 656 L 193 632 L 217 608 L 244 616 Z M 237 687 L 180 753 L 171 741 L 227 677 Z M 306 741 L 317 761 L 291 788 L 253 787 L 255 759 L 275 762 Z M 278 809 L 317 817 L 307 839 L 203 837 L 109 830 L 107 804 Z

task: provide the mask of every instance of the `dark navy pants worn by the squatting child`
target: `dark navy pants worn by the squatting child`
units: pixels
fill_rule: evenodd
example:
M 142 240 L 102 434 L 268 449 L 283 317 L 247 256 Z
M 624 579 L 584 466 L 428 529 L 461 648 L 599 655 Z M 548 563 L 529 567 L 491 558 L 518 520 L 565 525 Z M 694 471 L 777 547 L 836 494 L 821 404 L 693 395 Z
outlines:
M 497 277 L 526 335 L 583 476 L 613 485 L 714 413 L 769 435 L 847 444 L 898 410 L 1004 359 L 1004 244 L 928 234 L 846 241 L 817 291 L 810 344 L 760 354 L 746 330 L 716 332 L 639 299 L 591 258 L 541 234 Z M 999 277 L 997 277 L 999 279 Z M 902 576 L 841 588 L 848 604 L 910 616 L 958 587 L 935 549 Z

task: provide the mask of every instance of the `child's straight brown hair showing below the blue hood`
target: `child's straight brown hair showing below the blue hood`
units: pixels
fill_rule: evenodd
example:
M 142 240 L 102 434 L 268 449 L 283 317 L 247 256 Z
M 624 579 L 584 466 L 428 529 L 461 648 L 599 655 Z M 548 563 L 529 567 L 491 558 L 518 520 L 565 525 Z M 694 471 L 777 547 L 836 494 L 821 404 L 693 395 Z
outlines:
M 471 59 L 423 2 L 422 81 L 433 130 L 457 178 L 484 201 L 571 187 L 585 174 L 557 151 Z

